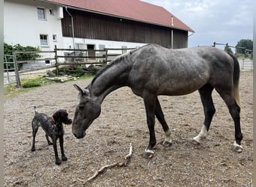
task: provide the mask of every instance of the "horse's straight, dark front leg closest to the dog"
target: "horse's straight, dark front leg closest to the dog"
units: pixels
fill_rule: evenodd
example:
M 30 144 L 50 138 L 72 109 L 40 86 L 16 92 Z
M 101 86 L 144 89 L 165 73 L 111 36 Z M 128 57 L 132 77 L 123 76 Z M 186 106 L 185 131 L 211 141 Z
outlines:
M 145 150 L 143 157 L 146 159 L 151 159 L 153 157 L 153 147 L 156 144 L 155 135 L 155 108 L 156 108 L 156 97 L 144 98 L 144 105 L 147 114 L 147 127 L 150 132 L 150 141 Z

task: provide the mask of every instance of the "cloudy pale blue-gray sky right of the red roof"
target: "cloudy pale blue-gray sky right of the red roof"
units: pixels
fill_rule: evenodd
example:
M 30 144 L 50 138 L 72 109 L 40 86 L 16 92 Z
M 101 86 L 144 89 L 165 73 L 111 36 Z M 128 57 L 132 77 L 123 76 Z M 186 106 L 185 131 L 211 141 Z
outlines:
M 195 34 L 189 37 L 189 47 L 210 46 L 213 42 L 236 46 L 241 39 L 252 40 L 255 0 L 143 1 L 164 7 L 192 28 Z

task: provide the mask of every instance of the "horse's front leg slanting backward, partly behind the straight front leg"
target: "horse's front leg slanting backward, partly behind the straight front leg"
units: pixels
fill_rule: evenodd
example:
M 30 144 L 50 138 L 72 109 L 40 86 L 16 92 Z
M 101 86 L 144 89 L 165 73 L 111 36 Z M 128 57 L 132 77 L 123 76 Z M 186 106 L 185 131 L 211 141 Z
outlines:
M 171 131 L 165 121 L 165 115 L 162 112 L 161 105 L 159 103 L 159 99 L 156 98 L 156 109 L 155 109 L 155 114 L 157 120 L 159 120 L 159 123 L 162 125 L 162 129 L 165 132 L 165 141 L 163 141 L 162 145 L 165 147 L 171 146 Z

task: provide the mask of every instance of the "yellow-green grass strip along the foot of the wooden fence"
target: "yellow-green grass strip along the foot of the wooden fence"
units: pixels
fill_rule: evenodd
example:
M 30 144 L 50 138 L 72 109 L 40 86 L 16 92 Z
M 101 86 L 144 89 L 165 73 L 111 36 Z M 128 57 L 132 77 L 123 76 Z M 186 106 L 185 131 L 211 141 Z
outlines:
M 93 75 L 85 75 L 80 76 L 79 79 L 91 79 Z M 43 76 L 33 76 L 29 79 L 21 79 L 21 87 L 16 88 L 16 83 L 7 85 L 4 87 L 4 96 L 6 97 L 13 97 L 19 93 L 24 93 L 26 91 L 31 91 L 34 88 L 50 85 L 50 84 L 58 84 L 54 81 L 49 81 L 48 79 L 44 78 Z

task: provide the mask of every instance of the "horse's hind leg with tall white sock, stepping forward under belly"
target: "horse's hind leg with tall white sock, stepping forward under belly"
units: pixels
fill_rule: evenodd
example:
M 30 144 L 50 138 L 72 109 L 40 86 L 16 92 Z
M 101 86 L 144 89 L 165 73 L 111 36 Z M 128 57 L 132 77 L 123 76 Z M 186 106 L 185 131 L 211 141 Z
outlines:
M 215 114 L 216 109 L 213 105 L 213 86 L 204 85 L 204 87 L 199 90 L 201 96 L 201 102 L 204 106 L 204 124 L 201 127 L 201 131 L 197 136 L 192 138 L 193 144 L 201 144 L 201 140 L 207 137 L 208 131 L 210 129 L 210 123 L 213 120 L 213 115 Z

